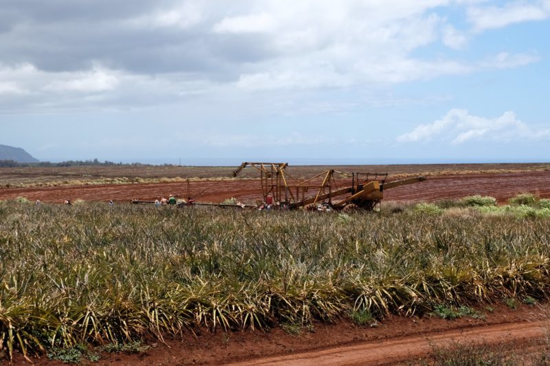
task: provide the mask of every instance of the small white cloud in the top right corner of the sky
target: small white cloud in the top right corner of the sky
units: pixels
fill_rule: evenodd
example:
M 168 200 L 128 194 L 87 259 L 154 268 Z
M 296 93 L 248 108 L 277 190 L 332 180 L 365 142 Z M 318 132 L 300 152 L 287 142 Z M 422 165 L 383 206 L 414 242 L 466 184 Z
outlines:
M 536 4 L 514 1 L 501 7 L 472 7 L 467 10 L 467 19 L 474 24 L 476 32 L 506 27 L 510 24 L 525 21 L 542 21 L 549 16 L 550 5 L 548 1 L 538 1 Z

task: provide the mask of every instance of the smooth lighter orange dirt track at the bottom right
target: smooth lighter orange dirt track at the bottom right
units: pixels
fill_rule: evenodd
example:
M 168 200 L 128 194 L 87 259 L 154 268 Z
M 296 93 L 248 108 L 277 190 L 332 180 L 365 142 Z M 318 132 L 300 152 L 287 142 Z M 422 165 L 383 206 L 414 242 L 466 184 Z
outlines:
M 315 352 L 256 358 L 229 365 L 393 365 L 428 356 L 434 345 L 441 347 L 456 342 L 484 345 L 514 343 L 516 346 L 527 344 L 542 339 L 549 326 L 549 321 L 487 325 L 473 329 L 450 330 L 439 334 L 333 347 Z

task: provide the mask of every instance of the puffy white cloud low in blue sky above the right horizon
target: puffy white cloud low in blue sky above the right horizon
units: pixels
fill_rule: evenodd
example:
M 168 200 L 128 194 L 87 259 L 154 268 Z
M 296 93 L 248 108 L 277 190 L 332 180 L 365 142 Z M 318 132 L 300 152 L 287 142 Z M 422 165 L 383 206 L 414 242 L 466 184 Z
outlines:
M 431 124 L 421 124 L 410 133 L 397 137 L 399 142 L 450 141 L 463 144 L 467 141 L 514 141 L 549 139 L 550 128 L 532 128 L 520 121 L 514 112 L 500 117 L 485 118 L 470 115 L 464 109 L 452 109 Z

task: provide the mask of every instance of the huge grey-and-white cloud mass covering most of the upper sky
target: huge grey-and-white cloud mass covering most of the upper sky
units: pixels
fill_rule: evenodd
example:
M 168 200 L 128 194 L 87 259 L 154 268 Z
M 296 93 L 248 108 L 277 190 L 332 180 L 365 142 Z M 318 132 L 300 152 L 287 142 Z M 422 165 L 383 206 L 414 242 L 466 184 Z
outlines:
M 494 9 L 511 12 L 518 4 Z M 260 99 L 250 93 L 256 90 L 376 91 L 540 60 L 536 52 L 447 54 L 448 49 L 439 49 L 441 43 L 463 49 L 476 34 L 459 29 L 463 19 L 442 16 L 445 7 L 459 16 L 462 9 L 456 8 L 469 8 L 475 21 L 483 1 L 167 0 L 127 17 L 126 10 L 118 9 L 118 15 L 94 27 L 74 19 L 59 24 L 32 19 L 0 37 L 3 54 L 12 46 L 14 60 L 29 57 L 23 65 L 0 65 L 0 93 L 26 96 L 32 108 L 72 105 L 75 91 L 89 105 L 124 100 L 140 108 L 184 98 L 206 102 L 218 98 L 212 94 L 220 90 L 243 100 Z M 28 55 L 35 55 L 36 62 Z M 52 91 L 55 99 L 48 95 Z

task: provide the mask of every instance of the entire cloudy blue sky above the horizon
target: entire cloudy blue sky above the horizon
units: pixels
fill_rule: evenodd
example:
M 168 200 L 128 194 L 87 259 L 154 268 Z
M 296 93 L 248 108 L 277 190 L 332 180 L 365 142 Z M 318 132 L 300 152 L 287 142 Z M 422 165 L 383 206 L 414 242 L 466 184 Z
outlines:
M 550 0 L 2 0 L 42 161 L 550 161 Z

